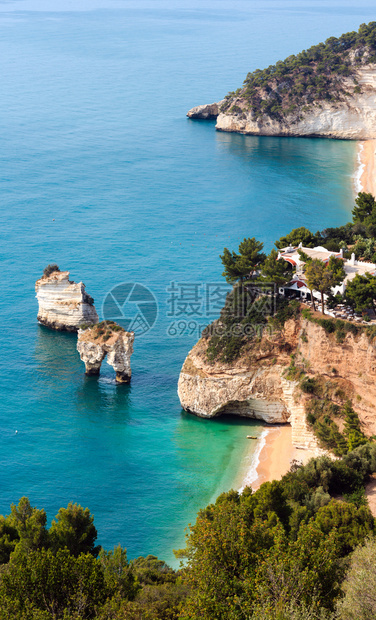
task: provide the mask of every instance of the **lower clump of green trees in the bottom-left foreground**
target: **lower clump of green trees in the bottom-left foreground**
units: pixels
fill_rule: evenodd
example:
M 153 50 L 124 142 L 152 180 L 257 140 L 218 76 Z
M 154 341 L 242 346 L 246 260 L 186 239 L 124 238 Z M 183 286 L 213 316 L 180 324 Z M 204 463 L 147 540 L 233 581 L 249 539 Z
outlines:
M 155 556 L 95 546 L 88 508 L 70 503 L 49 529 L 26 497 L 0 517 L 0 620 L 170 620 L 188 587 Z M 99 554 L 99 555 L 98 555 Z

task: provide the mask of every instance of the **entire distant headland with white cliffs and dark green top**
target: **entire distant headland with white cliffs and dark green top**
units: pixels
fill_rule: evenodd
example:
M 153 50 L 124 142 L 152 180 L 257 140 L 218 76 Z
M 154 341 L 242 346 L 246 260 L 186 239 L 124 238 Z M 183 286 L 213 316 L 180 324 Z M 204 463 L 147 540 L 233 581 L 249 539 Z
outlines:
M 376 22 L 249 73 L 223 101 L 192 108 L 219 131 L 376 138 Z

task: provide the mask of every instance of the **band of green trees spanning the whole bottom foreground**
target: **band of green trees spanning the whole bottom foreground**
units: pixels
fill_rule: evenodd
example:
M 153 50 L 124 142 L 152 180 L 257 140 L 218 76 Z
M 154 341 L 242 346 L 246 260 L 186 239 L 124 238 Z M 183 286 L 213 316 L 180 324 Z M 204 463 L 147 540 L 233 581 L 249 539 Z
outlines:
M 337 607 L 338 620 L 373 618 L 364 484 L 375 471 L 366 444 L 222 494 L 190 526 L 180 571 L 155 556 L 129 562 L 120 545 L 96 557 L 87 509 L 70 504 L 48 530 L 44 510 L 22 498 L 1 517 L 0 620 L 334 620 Z

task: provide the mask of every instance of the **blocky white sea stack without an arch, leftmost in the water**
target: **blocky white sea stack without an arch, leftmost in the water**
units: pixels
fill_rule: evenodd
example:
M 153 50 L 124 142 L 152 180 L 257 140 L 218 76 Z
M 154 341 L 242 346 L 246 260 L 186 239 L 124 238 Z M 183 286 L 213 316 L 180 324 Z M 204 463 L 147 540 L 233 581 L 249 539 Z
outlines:
M 71 282 L 69 271 L 54 271 L 35 283 L 38 321 L 60 331 L 76 332 L 83 323 L 98 323 L 91 297 L 82 282 Z

